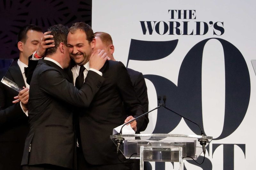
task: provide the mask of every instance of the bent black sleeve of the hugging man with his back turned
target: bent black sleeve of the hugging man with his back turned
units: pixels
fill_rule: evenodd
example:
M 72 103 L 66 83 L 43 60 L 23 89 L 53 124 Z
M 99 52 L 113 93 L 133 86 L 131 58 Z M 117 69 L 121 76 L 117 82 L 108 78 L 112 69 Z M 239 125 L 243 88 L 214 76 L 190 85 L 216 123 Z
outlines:
M 77 107 L 88 107 L 103 81 L 102 76 L 89 70 L 78 90 L 56 70 L 46 70 L 38 76 L 39 86 L 45 93 Z

